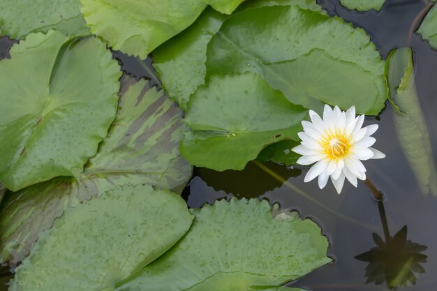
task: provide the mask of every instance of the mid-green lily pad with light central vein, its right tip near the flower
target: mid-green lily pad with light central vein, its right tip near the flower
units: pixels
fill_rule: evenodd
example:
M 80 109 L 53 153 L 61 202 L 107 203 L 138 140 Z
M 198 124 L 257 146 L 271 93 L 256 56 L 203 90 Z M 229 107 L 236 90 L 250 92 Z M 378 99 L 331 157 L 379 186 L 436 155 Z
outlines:
M 242 170 L 267 144 L 297 140 L 306 110 L 259 75 L 213 76 L 191 96 L 186 123 L 193 129 L 181 153 L 193 165 Z

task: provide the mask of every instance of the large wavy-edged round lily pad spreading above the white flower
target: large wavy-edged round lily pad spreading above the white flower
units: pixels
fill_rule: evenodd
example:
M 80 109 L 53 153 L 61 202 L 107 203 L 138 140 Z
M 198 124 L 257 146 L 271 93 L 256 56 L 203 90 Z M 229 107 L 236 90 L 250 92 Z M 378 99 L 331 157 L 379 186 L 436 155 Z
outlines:
M 314 56 L 314 52 L 310 53 L 314 49 L 324 50 L 325 54 Z M 306 54 L 308 56 L 305 58 Z M 281 64 L 294 59 L 294 63 Z M 357 108 L 359 113 L 376 115 L 385 105 L 385 62 L 364 30 L 355 28 L 353 24 L 347 24 L 338 17 L 302 10 L 297 6 L 248 9 L 225 20 L 207 49 L 207 76 L 251 71 L 263 75 L 269 82 L 285 80 L 286 83 L 292 83 L 292 80 L 289 81 L 290 75 L 283 75 L 288 74 L 291 69 L 272 69 L 272 66 L 280 65 L 291 66 L 293 70 L 297 70 L 293 67 L 300 66 L 309 72 L 314 66 L 325 68 L 322 72 L 318 70 L 318 84 L 312 84 L 311 87 L 306 85 L 307 90 L 311 89 L 309 94 L 312 94 L 314 103 L 318 102 L 318 106 L 313 109 L 320 108 L 323 101 L 346 110 L 350 106 L 351 96 L 366 96 L 362 100 L 365 105 Z M 327 72 L 329 74 L 325 74 Z M 309 75 L 310 73 L 307 74 L 304 84 L 314 82 Z M 321 80 L 322 77 L 328 79 Z M 362 86 L 363 80 L 357 80 L 357 77 L 364 78 L 364 84 L 368 86 Z M 341 84 L 331 83 L 338 83 L 341 78 Z M 300 81 L 302 82 L 302 78 Z M 350 84 L 351 87 L 344 89 L 345 84 Z M 286 88 L 288 87 L 290 85 L 287 84 Z M 313 87 L 316 87 L 315 91 L 312 91 Z M 353 90 L 348 91 L 350 88 Z M 334 92 L 340 95 L 326 100 L 328 96 L 325 91 L 330 92 L 329 96 Z M 289 100 L 295 101 L 299 99 L 301 92 L 286 90 L 283 93 Z

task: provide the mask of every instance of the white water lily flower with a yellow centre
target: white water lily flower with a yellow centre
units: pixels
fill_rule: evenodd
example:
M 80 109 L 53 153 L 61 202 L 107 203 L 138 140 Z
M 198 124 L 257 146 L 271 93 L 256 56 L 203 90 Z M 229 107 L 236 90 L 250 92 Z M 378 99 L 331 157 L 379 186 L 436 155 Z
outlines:
M 292 151 L 301 154 L 297 160 L 300 165 L 315 163 L 308 173 L 305 182 L 318 177 L 320 189 L 326 186 L 329 176 L 337 193 L 340 194 L 345 178 L 357 187 L 357 178 L 366 179 L 366 168 L 360 160 L 384 158 L 385 154 L 371 148 L 376 142 L 373 133 L 377 124 L 362 127 L 364 115 L 355 117 L 355 107 L 346 112 L 339 107 L 325 105 L 323 119 L 316 112 L 309 110 L 311 122 L 302 121 L 304 131 L 298 133 L 301 144 Z

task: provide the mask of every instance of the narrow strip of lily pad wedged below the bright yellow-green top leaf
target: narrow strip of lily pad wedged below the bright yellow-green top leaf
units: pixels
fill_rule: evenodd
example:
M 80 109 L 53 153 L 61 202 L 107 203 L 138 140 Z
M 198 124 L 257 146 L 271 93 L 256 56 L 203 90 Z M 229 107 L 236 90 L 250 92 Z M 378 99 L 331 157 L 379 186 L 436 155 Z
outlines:
M 207 44 L 225 20 L 212 8 L 175 38 L 154 50 L 154 67 L 161 77 L 163 88 L 182 110 L 195 89 L 205 82 Z

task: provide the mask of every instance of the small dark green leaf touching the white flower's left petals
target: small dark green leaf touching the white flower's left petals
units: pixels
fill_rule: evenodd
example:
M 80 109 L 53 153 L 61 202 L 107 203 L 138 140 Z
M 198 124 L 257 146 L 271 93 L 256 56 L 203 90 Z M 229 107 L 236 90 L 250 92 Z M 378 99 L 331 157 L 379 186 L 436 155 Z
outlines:
M 299 144 L 300 142 L 295 140 L 281 140 L 281 142 L 270 144 L 262 149 L 256 159 L 262 162 L 272 161 L 287 166 L 296 165 L 300 155 L 296 154 L 291 149 L 297 147 Z

